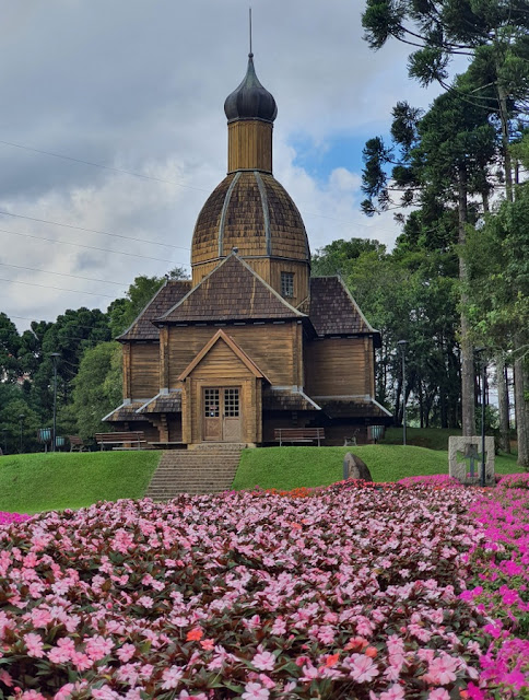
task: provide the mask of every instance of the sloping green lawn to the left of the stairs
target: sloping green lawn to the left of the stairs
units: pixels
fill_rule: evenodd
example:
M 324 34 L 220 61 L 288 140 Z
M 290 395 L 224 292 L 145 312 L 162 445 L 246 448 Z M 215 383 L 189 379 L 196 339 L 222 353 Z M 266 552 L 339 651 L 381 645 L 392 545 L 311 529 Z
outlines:
M 32 514 L 141 498 L 161 455 L 145 450 L 0 457 L 0 511 Z

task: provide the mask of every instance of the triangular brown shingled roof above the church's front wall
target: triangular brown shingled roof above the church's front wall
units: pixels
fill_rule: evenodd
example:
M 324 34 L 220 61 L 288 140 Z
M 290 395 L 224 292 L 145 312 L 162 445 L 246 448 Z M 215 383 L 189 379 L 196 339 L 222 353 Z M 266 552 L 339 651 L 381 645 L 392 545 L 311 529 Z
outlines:
M 228 255 L 157 322 L 303 318 L 235 253 Z

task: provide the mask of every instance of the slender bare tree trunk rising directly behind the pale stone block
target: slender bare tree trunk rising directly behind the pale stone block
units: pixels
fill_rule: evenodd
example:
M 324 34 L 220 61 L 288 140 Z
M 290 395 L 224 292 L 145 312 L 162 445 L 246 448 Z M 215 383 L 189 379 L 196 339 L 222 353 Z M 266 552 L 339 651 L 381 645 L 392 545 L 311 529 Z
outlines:
M 467 238 L 467 172 L 459 168 L 458 190 L 458 243 L 463 246 Z M 467 265 L 459 257 L 459 282 L 461 284 L 461 431 L 462 435 L 475 435 L 475 392 L 474 392 L 474 355 L 470 340 L 470 325 L 466 306 L 468 294 Z

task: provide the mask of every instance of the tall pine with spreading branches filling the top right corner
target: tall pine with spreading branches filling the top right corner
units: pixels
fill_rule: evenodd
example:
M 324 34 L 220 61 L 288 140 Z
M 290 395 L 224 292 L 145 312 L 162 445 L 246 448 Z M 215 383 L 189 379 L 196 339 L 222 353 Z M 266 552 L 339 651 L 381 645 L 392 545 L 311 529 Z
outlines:
M 518 140 L 527 120 L 529 98 L 529 13 L 527 0 L 367 0 L 362 18 L 374 49 L 393 37 L 416 47 L 409 74 L 423 85 L 437 81 L 446 90 L 450 60 L 467 55 L 469 105 L 482 107 L 497 127 L 506 197 L 513 200 L 509 143 Z M 521 126 L 520 126 L 521 125 Z M 516 375 L 521 382 L 520 373 Z M 516 395 L 522 395 L 517 386 Z M 518 435 L 518 443 L 524 435 Z

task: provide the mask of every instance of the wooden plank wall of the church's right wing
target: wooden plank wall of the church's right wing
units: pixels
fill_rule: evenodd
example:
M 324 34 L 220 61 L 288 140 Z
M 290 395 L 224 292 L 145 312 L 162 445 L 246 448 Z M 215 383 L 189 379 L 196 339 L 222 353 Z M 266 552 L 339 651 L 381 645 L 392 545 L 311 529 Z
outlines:
M 308 342 L 305 354 L 307 394 L 311 397 L 373 396 L 372 343 L 369 338 L 324 338 Z

